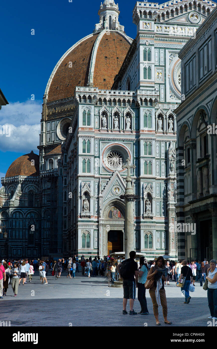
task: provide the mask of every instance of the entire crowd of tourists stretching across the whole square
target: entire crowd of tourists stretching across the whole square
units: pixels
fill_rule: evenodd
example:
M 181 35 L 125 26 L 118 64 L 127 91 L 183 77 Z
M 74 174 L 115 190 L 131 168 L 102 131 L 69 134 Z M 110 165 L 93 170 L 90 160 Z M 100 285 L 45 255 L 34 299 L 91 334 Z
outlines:
M 50 271 L 50 275 L 56 272 L 58 278 L 62 272 L 66 272 L 68 277 L 75 278 L 75 274 L 79 273 L 79 263 L 81 263 L 81 275 L 88 278 L 96 276 L 108 275 L 111 272 L 111 283 L 118 280 L 117 276 L 123 279 L 124 299 L 123 314 L 127 314 L 126 305 L 129 299 L 130 315 L 136 315 L 134 311 L 134 299 L 136 297 L 136 288 L 138 289 L 138 300 L 141 305 L 139 314 L 148 315 L 147 300 L 145 297 L 146 290 L 153 304 L 153 312 L 156 319 L 156 325 L 160 325 L 158 319 L 158 307 L 162 305 L 163 317 L 165 324 L 172 324 L 167 320 L 167 300 L 165 286 L 170 286 L 170 282 L 174 282 L 177 287 L 181 288 L 182 294 L 185 296 L 185 304 L 189 304 L 191 297 L 189 289 L 195 289 L 195 282 L 200 282 L 200 286 L 207 290 L 208 304 L 210 309 L 209 319 L 217 319 L 217 262 L 216 260 L 204 261 L 195 260 L 164 260 L 159 256 L 153 261 L 147 261 L 145 257 L 141 257 L 139 265 L 135 262 L 135 251 L 131 251 L 129 259 L 126 259 L 115 266 L 115 263 L 109 256 L 96 256 L 95 258 L 85 258 L 82 255 L 81 260 L 75 255 L 73 258 L 58 260 L 6 260 L 0 261 L 0 299 L 7 295 L 9 283 L 12 285 L 14 297 L 18 294 L 18 286 L 32 282 L 35 271 L 39 272 L 40 283 L 48 284 L 46 275 Z M 116 277 L 116 278 L 115 278 Z

